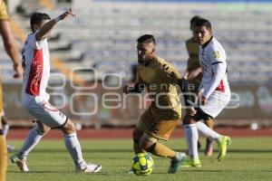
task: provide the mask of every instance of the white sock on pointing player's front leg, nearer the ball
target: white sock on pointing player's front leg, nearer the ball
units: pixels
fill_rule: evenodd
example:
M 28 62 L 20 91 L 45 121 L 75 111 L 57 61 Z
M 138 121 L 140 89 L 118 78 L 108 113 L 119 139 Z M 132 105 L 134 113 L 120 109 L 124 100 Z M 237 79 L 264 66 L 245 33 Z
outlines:
M 80 169 L 84 169 L 86 167 L 86 163 L 83 160 L 82 148 L 76 133 L 74 132 L 70 135 L 64 135 L 64 143 L 71 157 L 73 158 L 74 164 Z

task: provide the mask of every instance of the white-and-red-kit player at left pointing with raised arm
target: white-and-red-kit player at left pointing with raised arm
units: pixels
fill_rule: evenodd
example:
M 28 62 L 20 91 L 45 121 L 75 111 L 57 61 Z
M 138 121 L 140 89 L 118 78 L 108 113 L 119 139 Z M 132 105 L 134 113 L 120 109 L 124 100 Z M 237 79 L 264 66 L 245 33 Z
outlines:
M 24 66 L 22 102 L 24 108 L 38 120 L 37 126 L 30 130 L 25 139 L 23 147 L 11 157 L 11 161 L 23 172 L 28 171 L 26 157 L 29 152 L 50 129 L 63 131 L 64 143 L 73 158 L 76 171 L 94 173 L 102 169 L 100 165 L 87 164 L 84 161 L 73 122 L 48 102 L 46 87 L 50 76 L 50 57 L 47 38 L 53 26 L 67 16 L 75 16 L 72 9 L 52 20 L 48 14 L 34 13 L 30 20 L 33 33 L 27 36 L 22 50 Z

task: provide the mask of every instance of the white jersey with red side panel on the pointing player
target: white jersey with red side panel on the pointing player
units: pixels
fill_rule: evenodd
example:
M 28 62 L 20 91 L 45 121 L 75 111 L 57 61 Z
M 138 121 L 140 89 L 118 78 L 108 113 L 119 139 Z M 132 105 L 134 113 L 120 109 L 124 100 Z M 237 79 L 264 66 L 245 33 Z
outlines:
M 37 41 L 35 33 L 28 34 L 22 50 L 24 68 L 22 93 L 39 100 L 48 100 L 46 87 L 50 76 L 50 55 L 47 39 Z

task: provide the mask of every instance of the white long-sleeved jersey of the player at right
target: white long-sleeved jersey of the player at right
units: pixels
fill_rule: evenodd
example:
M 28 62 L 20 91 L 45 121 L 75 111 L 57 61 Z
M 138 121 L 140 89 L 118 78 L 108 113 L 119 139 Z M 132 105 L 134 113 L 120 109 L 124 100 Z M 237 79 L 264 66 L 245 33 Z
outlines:
M 225 92 L 229 89 L 226 52 L 216 38 L 199 46 L 199 62 L 203 71 L 199 90 L 205 98 L 215 90 Z

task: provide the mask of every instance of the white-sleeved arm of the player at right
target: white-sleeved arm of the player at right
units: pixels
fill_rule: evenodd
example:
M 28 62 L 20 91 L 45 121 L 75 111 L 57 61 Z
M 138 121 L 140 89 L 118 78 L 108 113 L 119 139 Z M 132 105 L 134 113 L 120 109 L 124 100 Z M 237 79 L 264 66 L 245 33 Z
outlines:
M 219 86 L 220 81 L 224 78 L 224 75 L 226 74 L 227 70 L 227 62 L 226 57 L 222 56 L 222 54 L 219 54 L 215 56 L 216 51 L 213 52 L 213 54 L 210 54 L 211 59 L 211 68 L 213 71 L 213 77 L 208 85 L 205 86 L 203 91 L 203 97 L 206 99 L 209 98 L 210 94 L 216 90 L 216 88 Z M 218 53 L 221 53 L 217 51 Z

